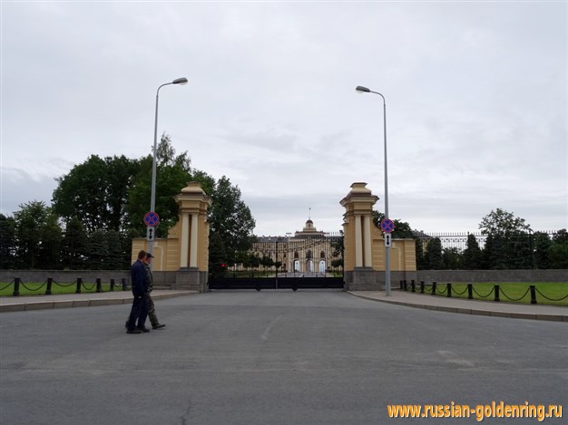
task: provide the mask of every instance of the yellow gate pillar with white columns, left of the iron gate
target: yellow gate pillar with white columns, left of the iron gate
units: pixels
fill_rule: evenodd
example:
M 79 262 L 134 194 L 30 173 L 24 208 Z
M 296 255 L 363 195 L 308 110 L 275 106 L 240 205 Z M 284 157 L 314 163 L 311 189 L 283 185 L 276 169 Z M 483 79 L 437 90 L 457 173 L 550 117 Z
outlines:
M 174 197 L 179 205 L 180 268 L 172 289 L 208 290 L 209 269 L 209 223 L 207 209 L 211 206 L 201 184 L 191 181 Z M 175 287 L 173 287 L 175 286 Z

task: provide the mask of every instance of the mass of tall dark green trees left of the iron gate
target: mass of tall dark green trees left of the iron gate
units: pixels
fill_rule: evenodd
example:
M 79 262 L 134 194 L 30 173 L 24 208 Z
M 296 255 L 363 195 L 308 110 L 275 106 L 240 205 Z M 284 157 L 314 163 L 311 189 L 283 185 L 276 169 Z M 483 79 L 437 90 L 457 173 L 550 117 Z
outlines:
M 132 238 L 145 237 L 150 209 L 152 155 L 140 159 L 92 155 L 57 179 L 52 204 L 30 201 L 13 217 L 0 214 L 0 268 L 122 270 L 130 267 Z M 156 148 L 156 237 L 166 237 L 178 220 L 174 200 L 190 181 L 211 197 L 211 263 L 248 249 L 255 221 L 240 188 L 191 167 L 164 134 Z

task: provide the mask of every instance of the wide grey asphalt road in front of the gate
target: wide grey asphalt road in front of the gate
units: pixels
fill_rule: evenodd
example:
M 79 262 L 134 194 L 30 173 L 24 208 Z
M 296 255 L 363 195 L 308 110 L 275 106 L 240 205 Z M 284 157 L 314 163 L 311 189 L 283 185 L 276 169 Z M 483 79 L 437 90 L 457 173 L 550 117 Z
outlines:
M 560 404 L 568 325 L 441 313 L 342 291 L 236 291 L 0 314 L 0 423 L 380 424 L 388 404 Z M 565 423 L 546 419 L 546 423 Z M 486 419 L 485 423 L 536 423 Z

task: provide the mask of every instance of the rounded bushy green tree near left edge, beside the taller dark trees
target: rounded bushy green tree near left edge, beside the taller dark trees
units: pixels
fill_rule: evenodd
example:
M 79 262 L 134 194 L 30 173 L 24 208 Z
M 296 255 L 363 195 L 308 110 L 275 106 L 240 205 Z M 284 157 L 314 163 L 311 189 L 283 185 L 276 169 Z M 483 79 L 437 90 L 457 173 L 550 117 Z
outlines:
M 52 208 L 31 201 L 14 213 L 17 257 L 22 268 L 61 268 L 62 230 Z

